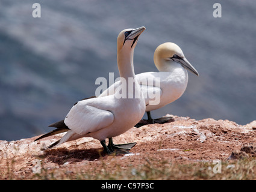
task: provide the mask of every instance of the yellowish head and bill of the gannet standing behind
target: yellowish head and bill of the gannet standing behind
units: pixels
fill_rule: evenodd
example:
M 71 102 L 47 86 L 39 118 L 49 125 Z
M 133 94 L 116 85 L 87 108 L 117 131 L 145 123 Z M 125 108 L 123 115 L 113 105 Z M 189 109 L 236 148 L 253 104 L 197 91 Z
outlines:
M 196 71 L 192 64 L 187 61 L 183 54 L 183 51 L 175 43 L 163 43 L 160 44 L 157 49 L 155 49 L 154 62 L 155 66 L 158 68 L 159 71 L 161 71 L 161 64 L 163 61 L 167 61 L 164 63 L 168 63 L 170 65 L 172 64 L 172 62 L 178 62 L 181 64 L 181 66 L 199 76 L 198 71 Z

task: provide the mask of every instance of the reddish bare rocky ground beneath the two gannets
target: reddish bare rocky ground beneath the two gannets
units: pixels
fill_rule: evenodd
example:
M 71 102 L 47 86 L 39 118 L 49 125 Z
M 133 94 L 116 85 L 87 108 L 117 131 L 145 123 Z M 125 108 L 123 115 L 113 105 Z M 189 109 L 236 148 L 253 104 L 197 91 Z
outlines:
M 228 120 L 196 121 L 189 117 L 173 116 L 173 121 L 166 124 L 133 127 L 114 137 L 114 143 L 137 142 L 130 154 L 117 155 L 114 159 L 124 164 L 126 161 L 140 164 L 142 158 L 139 157 L 180 163 L 255 157 L 255 146 L 252 146 L 256 140 L 255 129 L 256 121 L 239 125 Z M 10 172 L 14 178 L 26 178 L 34 174 L 33 169 L 37 164 L 46 170 L 72 167 L 87 169 L 87 166 L 98 166 L 100 158 L 108 158 L 102 152 L 99 141 L 92 138 L 66 142 L 48 151 L 41 150 L 60 137 L 61 134 L 37 142 L 34 142 L 37 137 L 0 141 L 0 178 L 7 178 Z

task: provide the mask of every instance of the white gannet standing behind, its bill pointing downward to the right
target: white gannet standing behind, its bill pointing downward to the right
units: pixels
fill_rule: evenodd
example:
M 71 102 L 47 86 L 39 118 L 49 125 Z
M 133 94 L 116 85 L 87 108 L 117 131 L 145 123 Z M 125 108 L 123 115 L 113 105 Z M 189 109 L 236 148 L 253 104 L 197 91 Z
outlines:
M 154 63 L 159 72 L 146 72 L 136 74 L 136 79 L 140 83 L 140 87 L 142 88 L 142 92 L 145 97 L 145 111 L 148 115 L 149 124 L 164 123 L 170 119 L 152 119 L 151 110 L 156 110 L 166 106 L 167 104 L 172 103 L 173 101 L 180 98 L 181 95 L 183 95 L 189 80 L 187 70 L 199 76 L 198 71 L 196 71 L 192 64 L 187 61 L 183 51 L 175 43 L 167 42 L 160 44 L 157 49 L 155 49 Z M 156 77 L 159 77 L 159 79 Z M 145 82 L 148 83 L 148 79 L 155 79 L 154 85 L 160 85 L 160 87 L 149 86 L 145 84 Z M 159 80 L 160 82 L 157 82 Z M 120 81 L 111 85 L 110 88 L 102 92 L 99 97 L 105 97 L 111 92 L 115 92 L 118 86 L 120 86 Z M 160 97 L 157 100 L 147 96 L 153 92 L 159 93 Z M 151 103 L 149 103 L 149 101 L 151 101 Z M 140 127 L 142 125 L 143 124 L 137 124 L 136 127 Z

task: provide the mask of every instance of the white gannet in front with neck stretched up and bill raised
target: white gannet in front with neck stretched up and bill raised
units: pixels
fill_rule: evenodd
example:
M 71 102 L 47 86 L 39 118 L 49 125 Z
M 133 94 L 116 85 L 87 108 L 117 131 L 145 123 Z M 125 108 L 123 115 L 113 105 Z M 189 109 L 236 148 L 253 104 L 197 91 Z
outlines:
M 133 67 L 134 48 L 139 35 L 145 29 L 144 26 L 137 29 L 125 29 L 117 37 L 117 65 L 120 77 L 125 79 L 126 83 L 128 83 L 129 78 L 134 79 L 135 77 Z M 125 96 L 132 95 L 133 97 L 119 98 L 119 95 L 117 95 L 119 91 L 117 91 L 114 95 L 78 101 L 67 113 L 65 119 L 49 125 L 49 127 L 56 127 L 57 129 L 36 140 L 67 131 L 60 140 L 45 149 L 81 137 L 93 137 L 101 141 L 101 145 L 108 154 L 113 152 L 126 153 L 136 143 L 114 145 L 112 137 L 125 133 L 136 125 L 145 113 L 145 100 L 139 83 L 134 80 L 132 89 L 129 90 L 126 83 L 123 83 L 119 88 L 126 91 Z M 134 97 L 134 95 L 139 95 L 139 98 Z M 129 118 L 126 118 L 126 115 Z M 107 138 L 109 139 L 108 146 L 105 143 Z

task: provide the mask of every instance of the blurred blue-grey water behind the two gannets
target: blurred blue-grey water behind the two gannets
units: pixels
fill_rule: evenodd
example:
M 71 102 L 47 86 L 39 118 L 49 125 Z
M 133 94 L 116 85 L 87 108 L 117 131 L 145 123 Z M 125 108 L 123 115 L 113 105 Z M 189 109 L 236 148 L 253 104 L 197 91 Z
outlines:
M 40 3 L 42 17 L 32 16 Z M 222 18 L 213 17 L 213 4 Z M 95 95 L 98 77 L 114 72 L 122 29 L 145 26 L 134 53 L 136 73 L 157 71 L 155 48 L 178 44 L 189 72 L 184 95 L 152 112 L 256 120 L 256 2 L 225 1 L 0 1 L 0 140 L 50 131 L 73 104 Z

